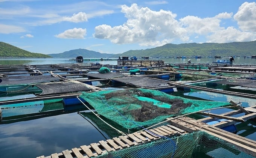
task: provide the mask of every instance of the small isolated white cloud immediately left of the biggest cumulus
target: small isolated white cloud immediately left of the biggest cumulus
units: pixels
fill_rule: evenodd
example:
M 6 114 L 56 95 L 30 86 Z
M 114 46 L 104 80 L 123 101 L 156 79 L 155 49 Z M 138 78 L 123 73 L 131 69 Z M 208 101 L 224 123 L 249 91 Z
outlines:
M 74 28 L 66 30 L 58 35 L 55 35 L 57 38 L 65 38 L 65 39 L 84 39 L 86 35 L 86 29 L 82 28 Z

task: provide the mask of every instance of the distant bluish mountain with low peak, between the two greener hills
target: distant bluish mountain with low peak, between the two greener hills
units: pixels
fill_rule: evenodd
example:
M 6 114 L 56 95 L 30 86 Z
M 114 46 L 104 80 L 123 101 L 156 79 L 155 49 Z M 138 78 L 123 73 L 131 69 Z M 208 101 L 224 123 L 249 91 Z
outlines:
M 96 51 L 86 50 L 86 49 L 77 49 L 77 50 L 70 50 L 65 51 L 63 53 L 58 54 L 48 54 L 51 57 L 66 57 L 66 58 L 75 58 L 77 56 L 83 56 L 84 58 L 110 58 L 114 54 L 107 54 L 107 53 L 99 53 Z

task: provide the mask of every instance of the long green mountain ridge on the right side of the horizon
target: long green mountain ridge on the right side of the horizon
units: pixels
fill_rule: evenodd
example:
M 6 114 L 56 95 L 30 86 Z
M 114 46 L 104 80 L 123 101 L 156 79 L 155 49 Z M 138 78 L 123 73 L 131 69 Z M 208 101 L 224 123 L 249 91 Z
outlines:
M 256 41 L 231 42 L 231 43 L 189 43 L 189 44 L 166 44 L 161 47 L 146 50 L 129 50 L 118 56 L 136 57 L 176 57 L 176 56 L 252 56 L 256 55 Z

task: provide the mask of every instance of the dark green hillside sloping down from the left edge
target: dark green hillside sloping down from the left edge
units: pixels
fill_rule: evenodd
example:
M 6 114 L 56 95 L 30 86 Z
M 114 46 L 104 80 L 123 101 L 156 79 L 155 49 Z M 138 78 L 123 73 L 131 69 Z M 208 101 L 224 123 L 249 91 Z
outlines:
M 31 53 L 5 42 L 0 42 L 0 57 L 50 57 L 46 54 Z

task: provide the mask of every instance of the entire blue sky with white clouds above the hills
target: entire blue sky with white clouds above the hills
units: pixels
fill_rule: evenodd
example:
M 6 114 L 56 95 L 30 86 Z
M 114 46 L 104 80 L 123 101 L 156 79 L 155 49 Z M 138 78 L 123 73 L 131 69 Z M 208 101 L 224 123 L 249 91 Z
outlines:
M 33 53 L 255 40 L 253 1 L 0 0 L 0 41 Z

